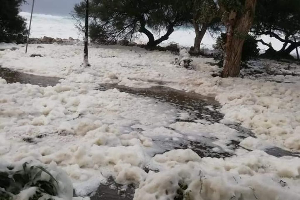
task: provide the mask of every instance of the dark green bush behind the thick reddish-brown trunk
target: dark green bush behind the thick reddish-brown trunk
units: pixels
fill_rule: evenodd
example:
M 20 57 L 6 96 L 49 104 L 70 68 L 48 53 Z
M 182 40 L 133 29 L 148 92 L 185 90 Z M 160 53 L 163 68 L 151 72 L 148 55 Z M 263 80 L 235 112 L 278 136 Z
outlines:
M 242 49 L 242 59 L 241 65 L 247 64 L 251 59 L 255 59 L 259 56 L 259 48 L 257 46 L 256 37 L 252 35 L 247 35 L 245 37 L 245 42 Z M 219 62 L 219 66 L 223 66 L 223 60 L 225 56 L 225 44 L 226 44 L 226 34 L 222 33 L 216 40 L 216 45 L 214 49 L 216 53 L 214 54 L 214 59 Z

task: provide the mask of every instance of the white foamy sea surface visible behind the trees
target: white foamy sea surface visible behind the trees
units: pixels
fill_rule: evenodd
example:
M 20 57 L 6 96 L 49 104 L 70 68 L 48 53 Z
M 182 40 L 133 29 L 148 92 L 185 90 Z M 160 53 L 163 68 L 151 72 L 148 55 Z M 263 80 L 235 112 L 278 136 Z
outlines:
M 29 26 L 30 13 L 28 12 L 20 12 L 20 15 L 27 19 L 27 26 Z M 31 25 L 31 37 L 42 38 L 44 36 L 53 37 L 53 38 L 69 38 L 72 37 L 74 39 L 83 39 L 82 33 L 79 33 L 75 28 L 76 21 L 72 19 L 71 16 L 61 17 L 54 15 L 46 15 L 46 14 L 33 14 L 32 17 L 32 25 Z M 159 35 L 156 35 L 159 37 Z M 205 34 L 201 48 L 211 49 L 212 45 L 215 43 L 215 39 L 217 36 L 212 36 L 208 32 Z M 164 41 L 161 45 L 165 46 L 170 43 L 177 43 L 182 46 L 191 47 L 193 46 L 195 38 L 195 32 L 192 28 L 176 29 L 169 37 L 167 41 Z M 274 49 L 280 49 L 282 47 L 282 43 L 274 38 L 270 38 L 268 36 L 261 37 L 265 42 L 271 42 Z M 145 35 L 141 34 L 140 38 L 136 39 L 137 43 L 146 43 L 147 38 Z M 266 49 L 265 45 L 259 43 L 259 48 L 261 52 Z M 292 52 L 292 54 L 295 52 Z

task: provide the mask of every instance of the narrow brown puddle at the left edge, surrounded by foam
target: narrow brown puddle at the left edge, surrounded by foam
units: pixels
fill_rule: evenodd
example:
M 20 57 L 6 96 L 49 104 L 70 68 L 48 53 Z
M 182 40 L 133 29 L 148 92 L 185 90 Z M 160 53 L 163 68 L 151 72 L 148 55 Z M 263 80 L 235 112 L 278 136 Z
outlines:
M 41 87 L 55 86 L 59 83 L 61 78 L 37 76 L 33 74 L 26 74 L 23 72 L 17 72 L 10 70 L 8 68 L 3 68 L 0 66 L 0 77 L 5 79 L 7 83 L 22 83 L 22 84 L 32 84 L 39 85 Z

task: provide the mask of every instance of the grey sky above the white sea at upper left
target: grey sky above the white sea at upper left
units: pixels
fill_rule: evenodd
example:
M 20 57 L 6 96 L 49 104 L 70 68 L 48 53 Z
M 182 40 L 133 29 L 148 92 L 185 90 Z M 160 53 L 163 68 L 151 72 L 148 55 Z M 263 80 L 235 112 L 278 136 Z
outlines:
M 73 6 L 82 0 L 35 0 L 33 13 L 52 14 L 67 16 L 73 10 Z M 22 5 L 21 10 L 31 12 L 32 0 L 27 0 L 28 4 Z

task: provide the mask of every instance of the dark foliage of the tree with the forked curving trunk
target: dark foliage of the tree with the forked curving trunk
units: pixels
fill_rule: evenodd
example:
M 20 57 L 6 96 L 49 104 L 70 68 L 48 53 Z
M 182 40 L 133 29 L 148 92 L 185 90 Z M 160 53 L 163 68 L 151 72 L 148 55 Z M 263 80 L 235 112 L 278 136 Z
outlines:
M 145 33 L 146 27 L 157 33 L 172 30 L 188 23 L 190 10 L 187 5 L 180 0 L 91 0 L 91 42 L 114 44 L 122 39 L 131 41 L 140 32 Z M 80 30 L 84 12 L 85 2 L 75 5 L 73 17 L 79 22 L 77 28 Z M 145 34 L 150 41 L 153 35 L 148 32 Z

